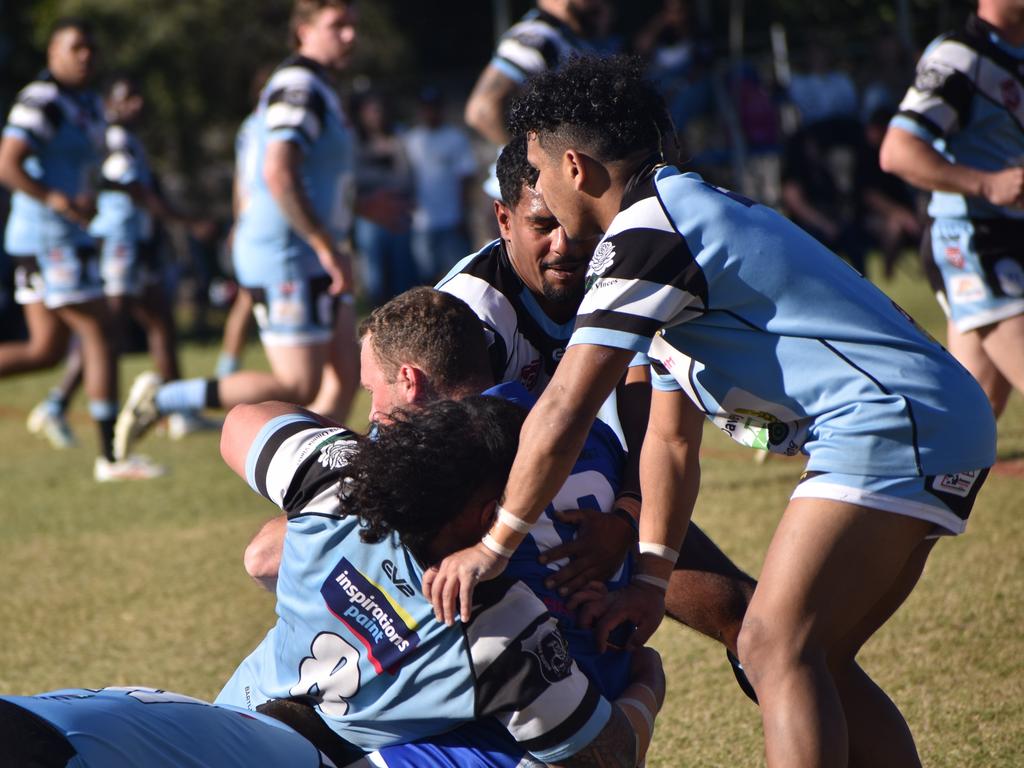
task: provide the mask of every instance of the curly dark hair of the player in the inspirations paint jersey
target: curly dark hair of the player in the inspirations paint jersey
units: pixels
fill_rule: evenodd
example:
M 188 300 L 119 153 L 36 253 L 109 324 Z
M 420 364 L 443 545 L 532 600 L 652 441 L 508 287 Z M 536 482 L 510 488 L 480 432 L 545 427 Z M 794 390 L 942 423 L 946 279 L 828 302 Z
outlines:
M 430 543 L 481 495 L 498 498 L 526 413 L 501 397 L 472 395 L 397 411 L 340 470 L 341 509 L 359 518 L 362 541 L 392 532 L 421 562 Z M 446 554 L 446 553 L 442 553 Z

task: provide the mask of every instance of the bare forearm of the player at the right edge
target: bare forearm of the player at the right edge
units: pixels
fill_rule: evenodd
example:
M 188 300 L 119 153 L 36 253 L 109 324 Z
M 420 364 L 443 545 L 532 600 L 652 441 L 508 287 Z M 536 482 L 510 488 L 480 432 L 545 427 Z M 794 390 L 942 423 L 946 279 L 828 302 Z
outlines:
M 984 171 L 950 163 L 930 144 L 900 128 L 890 128 L 879 153 L 882 170 L 921 189 L 981 197 Z

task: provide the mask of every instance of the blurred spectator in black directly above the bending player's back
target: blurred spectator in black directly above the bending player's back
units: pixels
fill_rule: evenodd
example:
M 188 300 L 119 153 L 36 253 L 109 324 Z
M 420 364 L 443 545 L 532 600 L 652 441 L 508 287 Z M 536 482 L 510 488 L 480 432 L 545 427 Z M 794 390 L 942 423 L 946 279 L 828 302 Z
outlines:
M 782 206 L 791 219 L 863 273 L 867 240 L 855 189 L 861 152 L 855 120 L 801 128 L 782 152 Z

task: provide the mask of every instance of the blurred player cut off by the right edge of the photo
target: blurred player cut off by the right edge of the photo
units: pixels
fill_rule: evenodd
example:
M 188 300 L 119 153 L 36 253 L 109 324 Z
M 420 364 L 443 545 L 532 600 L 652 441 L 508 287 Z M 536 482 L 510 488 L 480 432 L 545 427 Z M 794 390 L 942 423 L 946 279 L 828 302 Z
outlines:
M 998 417 L 1024 392 L 1024 7 L 979 0 L 929 45 L 882 143 L 883 169 L 932 191 L 922 255 L 946 344 Z

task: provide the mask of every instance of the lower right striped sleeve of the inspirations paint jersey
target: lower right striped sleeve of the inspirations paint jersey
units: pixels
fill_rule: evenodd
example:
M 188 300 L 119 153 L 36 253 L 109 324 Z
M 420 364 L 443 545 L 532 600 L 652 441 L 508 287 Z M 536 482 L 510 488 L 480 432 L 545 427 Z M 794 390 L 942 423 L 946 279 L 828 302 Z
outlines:
M 476 678 L 477 716 L 497 717 L 544 762 L 589 744 L 611 705 L 569 655 L 557 622 L 521 582 L 498 579 L 474 592 L 466 638 Z

